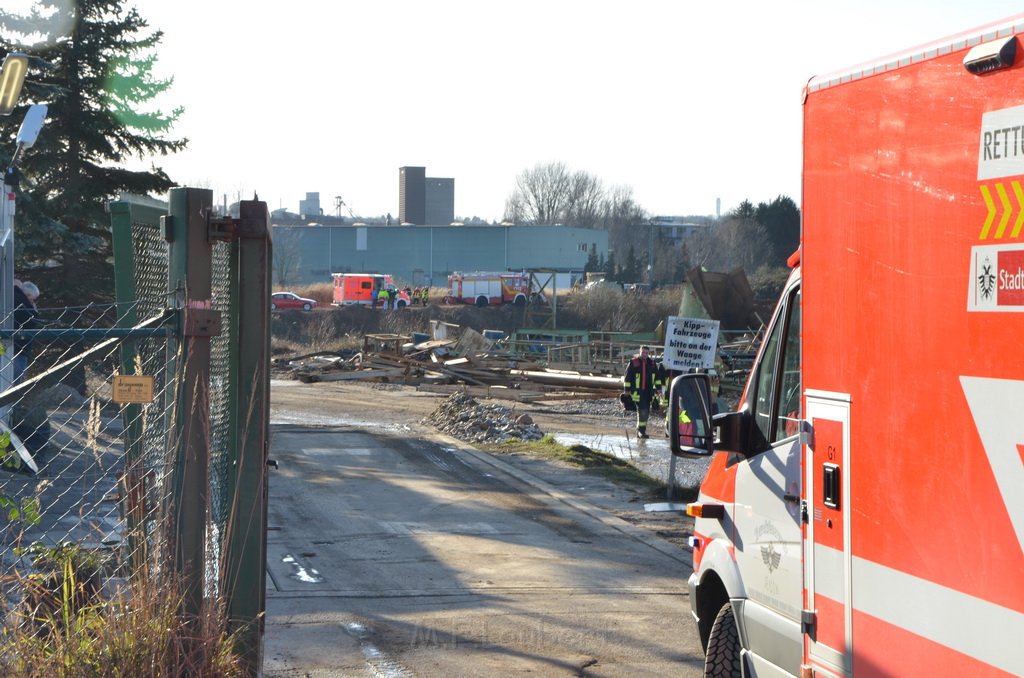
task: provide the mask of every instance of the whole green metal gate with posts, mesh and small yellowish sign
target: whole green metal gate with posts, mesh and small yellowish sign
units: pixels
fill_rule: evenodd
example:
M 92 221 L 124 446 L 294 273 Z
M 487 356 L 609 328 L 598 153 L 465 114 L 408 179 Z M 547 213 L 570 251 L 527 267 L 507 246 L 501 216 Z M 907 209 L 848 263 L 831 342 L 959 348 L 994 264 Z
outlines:
M 0 576 L 25 547 L 71 543 L 104 555 L 111 579 L 173 567 L 182 612 L 225 604 L 251 668 L 264 605 L 269 410 L 269 218 L 212 194 L 169 209 L 111 206 L 116 301 L 40 308 L 0 322 Z M 6 319 L 0 319 L 0 321 Z M 242 341 L 242 337 L 245 341 Z M 8 354 L 8 357 L 11 357 Z M 3 376 L 8 375 L 6 383 Z M 232 519 L 244 516 L 243 519 Z

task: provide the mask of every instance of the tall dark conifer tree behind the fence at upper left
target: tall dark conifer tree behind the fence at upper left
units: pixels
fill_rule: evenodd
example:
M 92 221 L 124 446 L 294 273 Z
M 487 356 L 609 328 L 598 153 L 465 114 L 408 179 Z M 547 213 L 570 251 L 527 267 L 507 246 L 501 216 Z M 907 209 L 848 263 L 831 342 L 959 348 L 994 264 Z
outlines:
M 159 167 L 132 171 L 123 165 L 176 153 L 187 139 L 167 137 L 180 108 L 146 108 L 172 83 L 152 72 L 152 52 L 163 34 L 148 32 L 138 11 L 121 0 L 78 0 L 74 6 L 70 22 L 67 9 L 45 13 L 52 9 L 49 0 L 40 0 L 29 16 L 0 12 L 0 52 L 17 49 L 32 57 L 23 105 L 0 122 L 0 130 L 12 137 L 28 104 L 47 104 L 46 126 L 18 164 L 17 266 L 55 263 L 58 274 L 49 285 L 109 299 L 105 203 L 121 193 L 161 195 L 175 185 Z M 43 41 L 25 44 L 40 34 Z M 83 281 L 92 289 L 82 290 Z

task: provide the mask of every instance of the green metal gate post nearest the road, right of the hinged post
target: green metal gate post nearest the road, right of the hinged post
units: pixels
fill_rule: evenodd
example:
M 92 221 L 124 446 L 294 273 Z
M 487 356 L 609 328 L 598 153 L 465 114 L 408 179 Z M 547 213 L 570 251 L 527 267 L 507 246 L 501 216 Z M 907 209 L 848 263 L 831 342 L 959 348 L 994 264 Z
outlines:
M 230 516 L 224 536 L 221 581 L 228 631 L 249 675 L 262 665 L 266 609 L 267 452 L 270 419 L 270 215 L 266 203 L 243 201 L 238 220 L 225 219 L 233 238 L 230 429 L 238 432 L 228 475 Z M 225 235 L 226 235 L 225 234 Z M 237 256 L 236 256 L 237 255 Z M 237 281 L 237 283 L 236 283 Z M 244 339 L 243 339 L 244 338 Z

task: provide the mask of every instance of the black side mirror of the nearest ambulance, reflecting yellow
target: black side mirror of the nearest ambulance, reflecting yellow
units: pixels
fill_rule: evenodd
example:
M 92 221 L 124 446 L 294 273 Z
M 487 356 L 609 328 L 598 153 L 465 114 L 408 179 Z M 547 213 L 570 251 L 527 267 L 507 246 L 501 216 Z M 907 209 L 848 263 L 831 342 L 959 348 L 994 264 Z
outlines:
M 679 457 L 709 457 L 715 452 L 711 377 L 684 374 L 669 389 L 669 442 Z

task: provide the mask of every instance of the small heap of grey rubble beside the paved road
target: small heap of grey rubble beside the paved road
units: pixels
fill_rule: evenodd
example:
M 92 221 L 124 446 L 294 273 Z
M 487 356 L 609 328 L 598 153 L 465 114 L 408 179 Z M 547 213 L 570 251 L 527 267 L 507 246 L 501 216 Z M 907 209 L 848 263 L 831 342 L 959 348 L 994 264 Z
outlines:
M 544 437 L 529 415 L 516 415 L 501 405 L 480 405 L 466 393 L 453 393 L 423 421 L 467 442 L 540 440 Z

